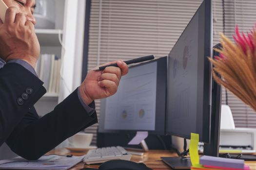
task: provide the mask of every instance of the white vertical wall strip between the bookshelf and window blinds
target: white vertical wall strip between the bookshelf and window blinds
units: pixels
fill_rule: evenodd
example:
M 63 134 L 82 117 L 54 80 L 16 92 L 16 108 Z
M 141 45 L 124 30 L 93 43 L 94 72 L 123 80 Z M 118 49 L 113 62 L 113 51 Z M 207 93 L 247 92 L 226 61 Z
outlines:
M 85 0 L 66 0 L 59 102 L 81 83 Z

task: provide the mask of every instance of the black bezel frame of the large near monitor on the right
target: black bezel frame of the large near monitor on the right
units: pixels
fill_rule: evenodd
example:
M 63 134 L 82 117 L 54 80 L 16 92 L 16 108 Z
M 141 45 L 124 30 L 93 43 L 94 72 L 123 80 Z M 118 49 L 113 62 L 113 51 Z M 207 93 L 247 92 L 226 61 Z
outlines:
M 210 129 L 211 129 L 211 98 L 212 98 L 212 64 L 209 62 L 208 57 L 212 57 L 212 1 L 211 0 L 204 0 L 199 8 L 197 9 L 196 13 L 198 10 L 204 5 L 204 83 L 203 83 L 203 122 L 202 122 L 202 136 L 199 136 L 199 141 L 204 142 L 204 143 L 210 143 Z M 190 22 L 192 19 L 195 17 L 195 15 L 191 18 Z M 210 18 L 210 19 L 209 19 Z M 190 24 L 188 23 L 188 25 Z M 199 24 L 199 23 L 198 23 Z M 186 28 L 188 27 L 186 26 Z M 184 29 L 184 31 L 186 30 Z M 184 32 L 183 31 L 183 32 Z M 182 33 L 183 34 L 183 33 Z M 181 35 L 182 35 L 181 34 Z M 180 37 L 181 37 L 180 35 Z M 180 39 L 178 38 L 178 40 Z M 177 41 L 178 41 L 177 40 Z M 176 42 L 177 44 L 177 42 Z M 175 45 L 176 45 L 175 44 Z M 174 47 L 175 47 L 174 45 Z M 168 68 L 167 68 L 168 70 Z M 168 73 L 167 73 L 168 74 Z M 208 80 L 208 81 L 206 81 Z M 167 88 L 168 88 L 168 78 L 167 78 Z M 167 97 L 166 97 L 166 103 L 167 103 Z M 166 104 L 166 112 L 168 111 Z M 174 136 L 179 136 L 183 137 L 186 139 L 190 139 L 191 136 L 190 134 L 183 135 L 183 134 L 178 134 L 174 132 L 169 132 L 167 128 L 168 124 L 168 114 L 166 113 L 166 135 L 174 135 Z

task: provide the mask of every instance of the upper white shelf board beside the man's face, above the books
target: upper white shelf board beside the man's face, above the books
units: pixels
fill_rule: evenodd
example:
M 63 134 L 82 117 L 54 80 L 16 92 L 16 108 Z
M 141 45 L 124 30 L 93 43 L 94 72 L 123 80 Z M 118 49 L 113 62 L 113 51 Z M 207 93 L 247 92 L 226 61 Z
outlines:
M 61 46 L 59 34 L 62 38 L 62 30 L 36 29 L 40 46 Z

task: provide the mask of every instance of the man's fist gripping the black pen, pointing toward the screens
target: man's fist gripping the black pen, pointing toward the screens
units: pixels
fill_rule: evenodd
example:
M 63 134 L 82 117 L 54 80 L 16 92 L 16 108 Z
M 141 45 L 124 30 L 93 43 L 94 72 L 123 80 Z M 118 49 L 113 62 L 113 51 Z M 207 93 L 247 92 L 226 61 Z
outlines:
M 89 105 L 95 99 L 102 99 L 115 94 L 118 90 L 121 76 L 128 73 L 128 66 L 121 60 L 107 63 L 117 63 L 118 67 L 107 67 L 102 71 L 91 70 L 80 85 L 82 100 Z

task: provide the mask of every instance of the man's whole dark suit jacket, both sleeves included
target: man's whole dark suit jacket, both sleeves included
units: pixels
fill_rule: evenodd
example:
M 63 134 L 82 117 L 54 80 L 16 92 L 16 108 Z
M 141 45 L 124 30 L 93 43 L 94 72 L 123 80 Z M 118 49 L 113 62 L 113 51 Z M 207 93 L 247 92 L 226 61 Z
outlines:
M 46 93 L 43 82 L 17 63 L 0 69 L 0 145 L 36 160 L 66 138 L 96 123 L 78 98 L 78 89 L 41 119 L 33 106 Z M 27 99 L 26 99 L 27 98 Z M 95 107 L 94 102 L 89 105 Z

